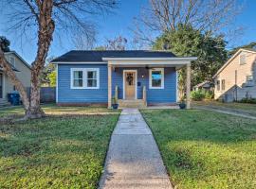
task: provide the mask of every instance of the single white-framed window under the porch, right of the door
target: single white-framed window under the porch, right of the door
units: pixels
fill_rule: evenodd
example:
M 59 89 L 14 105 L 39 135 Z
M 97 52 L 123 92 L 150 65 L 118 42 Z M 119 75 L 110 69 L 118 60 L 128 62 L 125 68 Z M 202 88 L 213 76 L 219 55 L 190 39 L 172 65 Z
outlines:
M 150 70 L 150 89 L 164 89 L 164 68 Z

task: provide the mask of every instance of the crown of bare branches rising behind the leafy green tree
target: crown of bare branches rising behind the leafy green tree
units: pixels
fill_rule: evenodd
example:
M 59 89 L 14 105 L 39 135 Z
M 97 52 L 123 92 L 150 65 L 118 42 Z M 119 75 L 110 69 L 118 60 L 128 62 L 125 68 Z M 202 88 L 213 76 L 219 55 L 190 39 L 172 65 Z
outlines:
M 235 31 L 241 29 L 233 23 L 241 9 L 237 4 L 236 0 L 149 0 L 133 30 L 142 42 L 153 42 L 155 35 L 175 30 L 179 24 L 214 34 L 228 32 L 228 26 Z

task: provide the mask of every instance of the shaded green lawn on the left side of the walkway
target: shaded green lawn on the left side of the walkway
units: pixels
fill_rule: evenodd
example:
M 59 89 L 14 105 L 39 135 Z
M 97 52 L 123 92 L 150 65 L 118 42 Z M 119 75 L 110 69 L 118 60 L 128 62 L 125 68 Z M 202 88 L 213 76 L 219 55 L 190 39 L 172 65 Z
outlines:
M 119 111 L 44 106 L 46 118 L 0 123 L 0 188 L 97 188 Z M 1 117 L 23 115 L 2 109 Z

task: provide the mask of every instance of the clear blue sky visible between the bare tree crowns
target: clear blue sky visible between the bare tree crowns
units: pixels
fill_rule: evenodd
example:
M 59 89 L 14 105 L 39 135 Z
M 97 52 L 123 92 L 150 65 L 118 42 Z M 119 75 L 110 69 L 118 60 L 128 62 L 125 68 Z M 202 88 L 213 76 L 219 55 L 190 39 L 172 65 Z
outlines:
M 97 25 L 97 45 L 105 43 L 105 39 L 111 39 L 116 36 L 123 36 L 126 39 L 131 39 L 133 33 L 131 28 L 134 24 L 134 18 L 140 13 L 140 10 L 147 6 L 148 0 L 119 0 L 119 8 L 110 15 L 105 15 L 95 21 Z M 235 25 L 243 26 L 244 33 L 238 39 L 228 42 L 228 49 L 234 46 L 256 42 L 256 0 L 238 0 L 238 3 L 243 5 L 242 13 L 236 18 Z M 31 63 L 36 55 L 35 40 L 19 40 L 15 33 L 6 31 L 6 26 L 3 24 L 4 15 L 0 13 L 0 36 L 6 36 L 10 41 L 10 49 L 15 50 L 24 60 Z M 61 42 L 61 43 L 60 43 Z M 69 50 L 75 49 L 74 43 L 66 39 L 54 38 L 51 44 L 48 56 L 58 57 Z

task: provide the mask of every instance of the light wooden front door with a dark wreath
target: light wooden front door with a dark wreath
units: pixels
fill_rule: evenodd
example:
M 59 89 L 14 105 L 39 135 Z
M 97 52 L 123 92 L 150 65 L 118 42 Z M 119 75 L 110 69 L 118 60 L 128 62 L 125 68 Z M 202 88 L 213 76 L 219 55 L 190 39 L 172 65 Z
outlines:
M 124 98 L 127 100 L 136 99 L 136 71 L 125 71 L 124 79 Z

